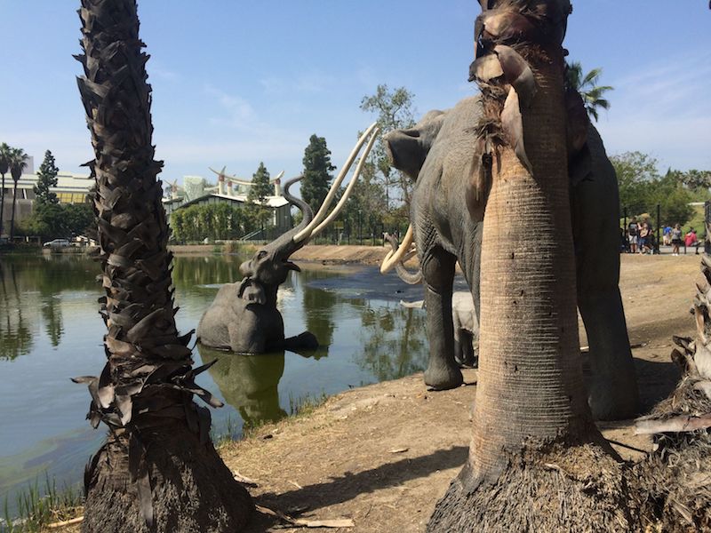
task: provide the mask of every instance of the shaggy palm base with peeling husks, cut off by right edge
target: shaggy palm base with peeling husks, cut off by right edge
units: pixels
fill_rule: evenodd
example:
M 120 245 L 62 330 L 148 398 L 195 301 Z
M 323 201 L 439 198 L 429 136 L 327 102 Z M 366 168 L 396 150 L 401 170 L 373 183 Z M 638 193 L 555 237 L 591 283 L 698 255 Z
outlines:
M 711 226 L 707 220 L 707 239 Z M 683 378 L 651 414 L 637 420 L 636 433 L 653 434 L 654 447 L 635 465 L 640 504 L 651 529 L 711 530 L 711 256 L 701 259 L 693 312 L 696 338 L 676 337 L 672 360 Z

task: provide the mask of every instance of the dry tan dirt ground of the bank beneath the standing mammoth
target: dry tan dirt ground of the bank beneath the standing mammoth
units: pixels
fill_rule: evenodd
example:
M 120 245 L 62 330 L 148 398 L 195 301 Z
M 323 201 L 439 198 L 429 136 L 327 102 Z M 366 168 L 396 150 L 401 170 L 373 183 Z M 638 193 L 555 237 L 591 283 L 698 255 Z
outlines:
M 349 262 L 363 251 L 307 247 L 296 259 Z M 360 247 L 350 247 L 360 248 Z M 371 249 L 377 263 L 383 249 Z M 321 249 L 321 250 L 318 250 Z M 354 254 L 354 255 L 351 255 Z M 377 256 L 377 254 L 380 254 Z M 377 256 L 377 257 L 376 257 Z M 672 334 L 691 335 L 689 308 L 699 256 L 623 256 L 620 287 L 644 409 L 679 377 L 669 360 Z M 587 344 L 581 338 L 581 345 Z M 352 519 L 354 526 L 314 531 L 423 531 L 435 503 L 467 459 L 476 370 L 466 385 L 428 392 L 421 374 L 337 394 L 308 415 L 263 426 L 220 449 L 234 473 L 253 481 L 252 497 L 305 520 Z M 604 423 L 615 442 L 650 449 L 631 421 Z M 643 453 L 614 444 L 622 457 Z M 255 513 L 248 531 L 295 531 Z

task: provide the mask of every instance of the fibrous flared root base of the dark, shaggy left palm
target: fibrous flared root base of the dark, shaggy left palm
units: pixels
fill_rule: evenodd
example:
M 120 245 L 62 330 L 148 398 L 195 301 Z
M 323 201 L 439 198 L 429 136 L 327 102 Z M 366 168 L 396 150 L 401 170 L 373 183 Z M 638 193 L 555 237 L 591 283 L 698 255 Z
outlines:
M 161 438 L 161 436 L 163 438 Z M 109 442 L 88 472 L 84 532 L 188 533 L 244 529 L 253 505 L 249 493 L 233 479 L 212 443 L 172 427 L 169 435 L 152 435 L 146 462 L 154 520 L 141 513 L 136 481 L 130 479 L 125 453 Z

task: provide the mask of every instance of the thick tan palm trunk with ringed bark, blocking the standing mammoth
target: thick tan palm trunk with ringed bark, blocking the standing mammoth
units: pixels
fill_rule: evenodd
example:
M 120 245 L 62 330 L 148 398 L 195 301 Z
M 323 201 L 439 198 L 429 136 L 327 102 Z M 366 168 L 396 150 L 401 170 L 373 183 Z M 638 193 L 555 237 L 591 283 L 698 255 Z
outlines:
M 474 433 L 428 530 L 627 530 L 625 479 L 579 357 L 561 47 L 571 6 L 482 4 L 472 74 L 492 164 L 470 194 L 488 192 Z

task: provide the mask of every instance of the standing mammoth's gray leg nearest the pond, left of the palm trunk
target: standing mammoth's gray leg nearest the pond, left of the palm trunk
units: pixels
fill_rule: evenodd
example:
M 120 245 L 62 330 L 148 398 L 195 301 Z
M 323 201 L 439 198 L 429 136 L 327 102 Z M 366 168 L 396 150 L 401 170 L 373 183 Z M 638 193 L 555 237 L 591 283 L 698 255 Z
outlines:
M 456 258 L 435 248 L 422 259 L 427 308 L 429 364 L 425 383 L 435 390 L 455 388 L 462 384 L 459 366 L 454 361 L 454 325 L 451 319 L 451 286 Z

